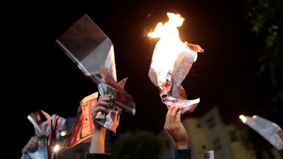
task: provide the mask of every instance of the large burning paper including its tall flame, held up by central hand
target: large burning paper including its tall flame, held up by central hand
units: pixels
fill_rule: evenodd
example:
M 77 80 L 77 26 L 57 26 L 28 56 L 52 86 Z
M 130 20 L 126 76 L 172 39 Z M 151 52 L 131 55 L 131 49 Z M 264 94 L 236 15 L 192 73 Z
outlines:
M 181 83 L 197 59 L 197 52 L 203 52 L 199 45 L 184 43 L 179 39 L 177 27 L 183 24 L 180 14 L 167 13 L 169 21 L 157 24 L 154 32 L 148 36 L 160 38 L 155 45 L 148 76 L 159 88 L 162 102 L 167 107 L 178 106 L 185 112 L 193 112 L 199 98 L 187 100 Z

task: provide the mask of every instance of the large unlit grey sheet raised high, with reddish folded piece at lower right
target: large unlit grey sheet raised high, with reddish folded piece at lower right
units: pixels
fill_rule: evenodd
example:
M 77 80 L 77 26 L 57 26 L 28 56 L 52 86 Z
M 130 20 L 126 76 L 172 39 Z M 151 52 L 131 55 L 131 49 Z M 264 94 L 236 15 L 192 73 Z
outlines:
M 113 44 L 86 14 L 60 36 L 56 43 L 97 85 L 100 95 L 108 94 L 115 98 L 113 111 L 123 109 L 135 115 L 135 101 L 124 90 L 126 80 L 117 83 Z M 106 119 L 105 114 L 100 114 Z

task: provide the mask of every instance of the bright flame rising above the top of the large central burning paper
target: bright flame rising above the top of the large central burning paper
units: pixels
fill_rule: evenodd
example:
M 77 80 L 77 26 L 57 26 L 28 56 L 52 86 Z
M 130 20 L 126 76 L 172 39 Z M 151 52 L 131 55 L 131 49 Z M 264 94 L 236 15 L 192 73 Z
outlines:
M 172 56 L 181 53 L 187 46 L 186 43 L 180 40 L 179 31 L 177 29 L 177 27 L 183 24 L 185 19 L 180 14 L 167 13 L 167 16 L 169 17 L 168 22 L 164 25 L 162 22 L 158 23 L 154 32 L 148 33 L 147 35 L 152 38 L 159 37 L 160 40 L 156 44 L 157 49 L 159 52 L 162 52 L 163 57 L 173 58 Z

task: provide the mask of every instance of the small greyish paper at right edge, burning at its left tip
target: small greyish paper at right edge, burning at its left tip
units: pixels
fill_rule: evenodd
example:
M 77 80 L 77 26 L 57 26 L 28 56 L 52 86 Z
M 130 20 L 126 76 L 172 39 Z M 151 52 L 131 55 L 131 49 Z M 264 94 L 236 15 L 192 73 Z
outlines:
M 241 115 L 239 117 L 244 124 L 254 129 L 277 150 L 283 149 L 283 131 L 280 126 L 257 115 L 253 117 Z

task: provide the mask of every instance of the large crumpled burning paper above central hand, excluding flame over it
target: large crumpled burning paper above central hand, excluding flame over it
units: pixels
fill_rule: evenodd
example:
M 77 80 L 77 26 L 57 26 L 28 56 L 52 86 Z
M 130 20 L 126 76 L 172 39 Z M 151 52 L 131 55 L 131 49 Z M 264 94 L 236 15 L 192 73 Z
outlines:
M 168 108 L 179 107 L 182 114 L 193 112 L 199 103 L 199 98 L 187 100 L 186 92 L 181 85 L 197 58 L 197 52 L 203 52 L 199 45 L 187 44 L 181 52 L 164 57 L 164 54 L 158 51 L 158 42 L 153 51 L 148 76 L 159 88 L 162 102 Z

